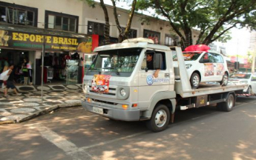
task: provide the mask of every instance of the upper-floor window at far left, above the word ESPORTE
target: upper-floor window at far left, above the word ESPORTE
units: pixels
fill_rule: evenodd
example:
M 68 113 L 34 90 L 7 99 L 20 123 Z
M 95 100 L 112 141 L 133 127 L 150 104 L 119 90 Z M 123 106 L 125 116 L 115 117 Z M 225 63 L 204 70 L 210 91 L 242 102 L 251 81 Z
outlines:
M 37 26 L 37 8 L 0 1 L 0 21 L 9 24 Z

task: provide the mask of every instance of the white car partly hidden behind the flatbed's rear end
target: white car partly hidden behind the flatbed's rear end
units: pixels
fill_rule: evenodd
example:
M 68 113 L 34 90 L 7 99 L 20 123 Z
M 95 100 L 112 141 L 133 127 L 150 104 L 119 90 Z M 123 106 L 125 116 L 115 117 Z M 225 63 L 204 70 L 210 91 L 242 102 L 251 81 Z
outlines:
M 256 74 L 252 73 L 234 73 L 229 76 L 229 84 L 248 84 L 243 93 L 256 93 Z

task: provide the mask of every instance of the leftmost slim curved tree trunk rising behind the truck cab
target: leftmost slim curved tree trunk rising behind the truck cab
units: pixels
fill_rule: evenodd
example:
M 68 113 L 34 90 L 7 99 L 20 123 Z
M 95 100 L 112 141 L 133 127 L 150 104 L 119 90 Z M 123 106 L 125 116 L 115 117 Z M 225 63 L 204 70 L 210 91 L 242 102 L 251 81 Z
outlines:
M 110 24 L 109 24 L 109 18 L 108 18 L 108 10 L 103 0 L 100 0 L 100 6 L 102 7 L 102 10 L 104 11 L 104 15 L 105 15 L 105 28 L 104 28 L 105 44 L 111 44 L 110 37 L 109 37 Z

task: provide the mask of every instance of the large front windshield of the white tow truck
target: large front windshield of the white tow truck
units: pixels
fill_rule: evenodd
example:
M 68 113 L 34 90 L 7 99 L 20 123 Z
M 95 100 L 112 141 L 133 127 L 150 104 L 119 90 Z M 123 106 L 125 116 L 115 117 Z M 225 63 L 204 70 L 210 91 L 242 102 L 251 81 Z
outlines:
M 108 72 L 112 76 L 130 76 L 141 51 L 142 48 L 100 51 L 88 71 Z

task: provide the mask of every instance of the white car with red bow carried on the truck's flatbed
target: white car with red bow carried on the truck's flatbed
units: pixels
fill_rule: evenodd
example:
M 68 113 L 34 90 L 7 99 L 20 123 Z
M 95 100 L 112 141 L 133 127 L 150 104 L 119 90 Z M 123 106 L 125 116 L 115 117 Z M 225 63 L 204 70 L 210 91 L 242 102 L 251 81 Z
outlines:
M 226 60 L 220 53 L 205 51 L 183 52 L 188 77 L 192 88 L 199 87 L 200 82 L 217 81 L 226 86 L 229 81 L 229 70 Z M 173 56 L 174 67 L 177 67 L 177 56 Z

